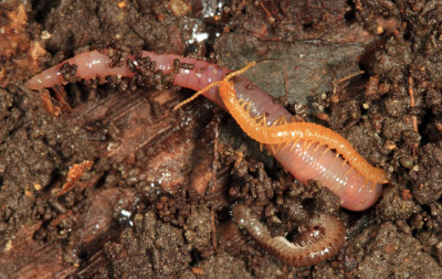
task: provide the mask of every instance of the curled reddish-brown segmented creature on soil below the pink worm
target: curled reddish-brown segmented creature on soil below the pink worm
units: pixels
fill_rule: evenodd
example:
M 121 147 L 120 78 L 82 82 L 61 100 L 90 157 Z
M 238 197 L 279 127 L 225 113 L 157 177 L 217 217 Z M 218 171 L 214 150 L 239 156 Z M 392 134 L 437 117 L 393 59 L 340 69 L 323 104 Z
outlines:
M 233 219 L 264 250 L 293 267 L 308 267 L 334 256 L 345 243 L 344 223 L 329 214 L 312 218 L 293 243 L 283 236 L 272 237 L 269 229 L 245 205 L 232 208 Z

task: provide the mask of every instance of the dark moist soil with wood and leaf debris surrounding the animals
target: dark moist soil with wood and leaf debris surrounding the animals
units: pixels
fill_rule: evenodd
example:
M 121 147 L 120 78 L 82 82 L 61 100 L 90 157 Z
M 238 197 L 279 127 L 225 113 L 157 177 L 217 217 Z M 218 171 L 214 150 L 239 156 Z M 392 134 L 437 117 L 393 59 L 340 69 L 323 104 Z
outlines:
M 0 26 L 0 278 L 442 277 L 439 0 L 11 0 Z M 265 61 L 245 76 L 345 136 L 391 183 L 371 208 L 340 208 L 208 100 L 172 111 L 191 92 L 161 75 L 27 88 L 98 47 L 232 69 Z M 235 203 L 273 235 L 336 214 L 346 244 L 284 266 L 238 230 Z

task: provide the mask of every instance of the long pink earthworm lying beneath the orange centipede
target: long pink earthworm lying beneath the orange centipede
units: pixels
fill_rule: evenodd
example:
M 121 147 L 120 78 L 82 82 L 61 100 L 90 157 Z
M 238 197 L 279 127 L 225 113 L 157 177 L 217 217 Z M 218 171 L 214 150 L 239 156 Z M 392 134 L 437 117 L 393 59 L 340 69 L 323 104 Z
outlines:
M 31 89 L 42 89 L 63 84 L 64 78 L 60 69 L 65 63 L 76 65 L 75 77 L 84 79 L 104 78 L 106 76 L 133 77 L 135 75 L 127 63 L 110 67 L 112 60 L 107 53 L 107 50 L 103 50 L 102 52 L 91 51 L 77 54 L 32 77 L 27 85 Z M 180 64 L 191 64 L 192 67 L 179 68 L 179 72 L 173 75 L 173 84 L 193 90 L 201 90 L 211 83 L 223 79 L 230 73 L 229 69 L 220 68 L 215 64 L 180 55 L 144 51 L 141 56 L 150 57 L 156 63 L 156 69 L 162 71 L 164 74 L 173 71 L 173 63 L 177 60 Z M 128 58 L 133 57 L 128 56 Z M 275 104 L 271 96 L 246 78 L 238 77 L 234 89 L 236 98 L 249 104 L 248 112 L 250 116 L 265 115 L 267 126 L 272 126 L 281 117 L 292 118 L 292 115 L 283 106 Z M 217 105 L 224 107 L 217 88 L 211 88 L 203 95 Z M 299 182 L 307 184 L 308 181 L 315 180 L 330 189 L 340 197 L 343 207 L 362 211 L 376 203 L 382 191 L 380 183 L 371 183 L 357 171 L 350 170 L 348 163 L 343 158 L 337 157 L 332 149 L 325 146 L 317 147 L 304 143 L 303 140 L 299 140 L 293 143 L 291 148 L 283 148 L 278 152 L 273 152 L 273 154 Z M 271 152 L 274 149 L 272 144 L 266 147 Z

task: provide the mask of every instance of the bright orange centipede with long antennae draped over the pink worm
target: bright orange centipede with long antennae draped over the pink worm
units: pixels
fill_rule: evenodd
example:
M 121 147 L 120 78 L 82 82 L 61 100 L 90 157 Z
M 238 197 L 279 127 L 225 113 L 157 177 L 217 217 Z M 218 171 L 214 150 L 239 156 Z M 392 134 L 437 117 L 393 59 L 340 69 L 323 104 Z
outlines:
M 245 67 L 232 72 L 222 81 L 211 83 L 203 89 L 197 92 L 192 97 L 180 103 L 173 109 L 178 109 L 182 105 L 193 100 L 199 95 L 209 90 L 214 86 L 219 86 L 221 99 L 230 115 L 235 119 L 241 129 L 252 139 L 260 143 L 276 146 L 273 151 L 277 153 L 284 148 L 294 149 L 299 141 L 304 142 L 303 149 L 308 149 L 315 143 L 316 151 L 320 147 L 326 147 L 322 152 L 335 150 L 336 158 L 344 158 L 343 165 L 348 163 L 350 168 L 346 171 L 349 173 L 352 169 L 361 174 L 367 182 L 376 184 L 388 183 L 388 178 L 382 169 L 375 168 L 368 163 L 343 136 L 333 131 L 329 128 L 312 122 L 287 122 L 284 117 L 277 119 L 273 125 L 267 125 L 265 114 L 260 117 L 251 117 L 249 114 L 248 103 L 236 98 L 233 82 L 230 79 L 233 76 L 240 75 L 250 67 L 256 65 L 255 62 L 248 64 Z M 249 104 L 250 107 L 250 104 Z

